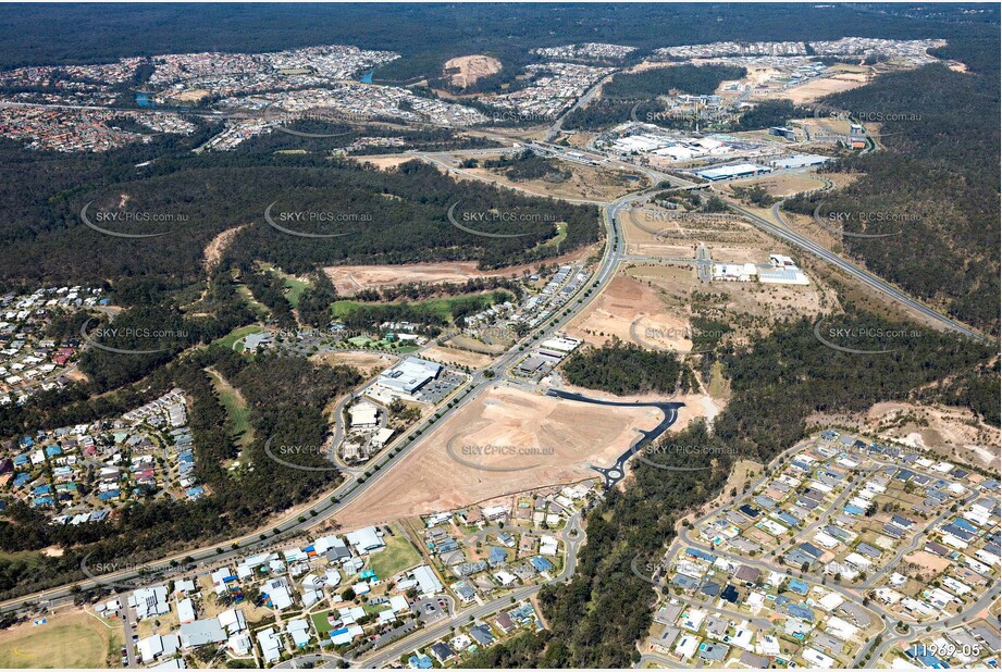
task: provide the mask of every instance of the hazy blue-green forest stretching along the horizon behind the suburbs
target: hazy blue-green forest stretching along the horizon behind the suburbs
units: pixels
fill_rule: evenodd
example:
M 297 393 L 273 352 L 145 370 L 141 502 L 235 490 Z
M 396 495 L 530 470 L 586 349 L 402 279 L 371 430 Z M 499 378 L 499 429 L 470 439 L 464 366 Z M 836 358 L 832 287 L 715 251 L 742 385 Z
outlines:
M 403 58 L 376 82 L 436 77 L 454 57 L 490 53 L 503 63 L 536 47 L 606 41 L 651 49 L 720 40 L 915 39 L 998 37 L 998 8 L 972 15 L 962 8 L 933 20 L 867 5 L 717 4 L 518 7 L 356 4 L 345 7 L 144 5 L 21 7 L 0 26 L 0 67 L 101 62 L 126 55 L 184 51 L 270 51 L 323 43 L 388 49 Z M 943 16 L 945 15 L 945 20 Z M 171 29 L 160 29 L 170 26 Z M 491 29 L 484 29 L 490 26 Z M 82 27 L 84 29 L 82 29 Z M 67 45 L 73 45 L 72 49 Z M 524 61 L 521 55 L 521 62 Z M 512 60 L 520 62 L 519 57 Z M 514 70 L 518 70 L 517 67 Z M 504 71 L 502 71 L 504 72 Z

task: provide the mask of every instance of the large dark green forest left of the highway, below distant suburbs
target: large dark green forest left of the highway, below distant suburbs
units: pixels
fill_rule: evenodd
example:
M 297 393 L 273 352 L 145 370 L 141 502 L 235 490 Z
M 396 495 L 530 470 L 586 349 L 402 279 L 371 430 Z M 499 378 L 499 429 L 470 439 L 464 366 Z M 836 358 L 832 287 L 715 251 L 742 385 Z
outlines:
M 215 235 L 246 224 L 224 265 L 250 269 L 260 260 L 295 274 L 349 262 L 475 260 L 483 267 L 502 267 L 558 253 L 537 245 L 554 236 L 551 222 L 568 224 L 564 251 L 599 235 L 594 208 L 455 182 L 419 161 L 380 171 L 310 154 L 248 150 L 199 157 L 177 151 L 183 147 L 161 147 L 168 153 L 154 165 L 134 167 L 148 160 L 148 149 L 67 157 L 0 142 L 0 198 L 11 203 L 0 223 L 0 285 L 109 285 L 120 304 L 158 303 L 200 282 L 205 249 Z M 91 216 L 116 211 L 123 194 L 128 211 L 175 221 L 117 225 L 122 232 L 168 235 L 125 239 L 84 225 L 85 206 Z M 448 222 L 447 211 L 457 201 L 462 211 L 507 209 L 543 216 L 520 223 L 525 236 L 475 236 Z M 270 226 L 263 213 L 272 203 L 280 226 L 331 237 L 301 237 Z M 327 221 L 290 223 L 310 213 Z M 488 221 L 482 229 L 505 226 L 511 225 Z

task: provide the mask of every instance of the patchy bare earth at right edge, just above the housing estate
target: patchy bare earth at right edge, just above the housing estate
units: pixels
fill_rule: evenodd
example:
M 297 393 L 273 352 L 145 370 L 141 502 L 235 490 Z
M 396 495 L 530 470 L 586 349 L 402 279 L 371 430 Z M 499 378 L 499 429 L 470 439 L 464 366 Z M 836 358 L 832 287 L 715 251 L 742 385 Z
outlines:
M 998 427 L 978 421 L 967 409 L 888 401 L 870 407 L 862 416 L 818 415 L 809 421 L 837 421 L 895 438 L 906 446 L 931 450 L 948 460 L 999 470 L 1002 434 Z

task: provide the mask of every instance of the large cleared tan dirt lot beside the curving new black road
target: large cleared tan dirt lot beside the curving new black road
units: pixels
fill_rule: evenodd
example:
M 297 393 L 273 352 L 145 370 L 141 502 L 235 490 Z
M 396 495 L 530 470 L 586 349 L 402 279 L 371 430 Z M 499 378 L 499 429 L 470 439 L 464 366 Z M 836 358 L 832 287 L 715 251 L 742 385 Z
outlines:
M 425 437 L 337 517 L 345 527 L 443 511 L 543 485 L 593 477 L 660 419 L 654 408 L 604 408 L 493 387 Z M 518 471 L 487 471 L 449 457 Z M 520 449 L 522 455 L 477 455 Z M 524 455 L 524 450 L 535 455 Z

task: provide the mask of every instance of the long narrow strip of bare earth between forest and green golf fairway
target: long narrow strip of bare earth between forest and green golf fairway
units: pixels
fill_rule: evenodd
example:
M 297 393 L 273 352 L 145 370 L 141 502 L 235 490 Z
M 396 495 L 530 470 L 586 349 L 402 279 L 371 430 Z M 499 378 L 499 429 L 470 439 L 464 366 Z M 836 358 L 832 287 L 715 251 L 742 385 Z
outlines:
M 547 259 L 546 263 L 552 265 L 554 263 L 577 261 L 587 257 L 591 252 L 592 247 L 586 247 L 554 259 Z M 465 283 L 474 277 L 512 277 L 521 275 L 525 271 L 534 272 L 539 266 L 539 263 L 521 264 L 481 271 L 477 267 L 475 261 L 443 261 L 398 265 L 327 266 L 324 271 L 330 276 L 331 282 L 334 283 L 337 296 L 346 298 L 351 297 L 361 289 L 379 289 L 380 287 L 392 287 L 407 283 Z

